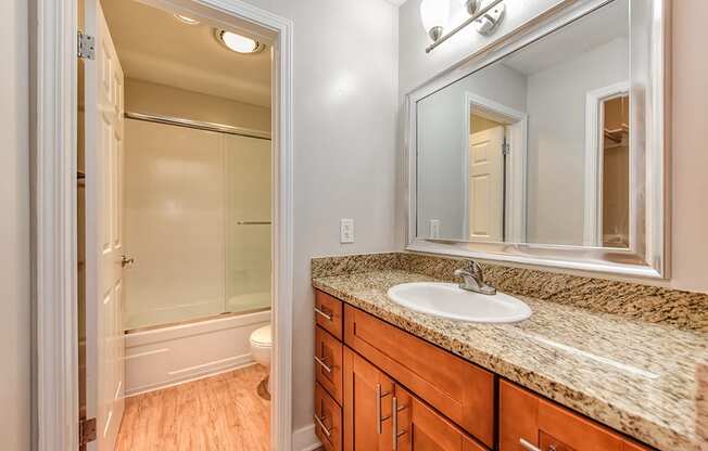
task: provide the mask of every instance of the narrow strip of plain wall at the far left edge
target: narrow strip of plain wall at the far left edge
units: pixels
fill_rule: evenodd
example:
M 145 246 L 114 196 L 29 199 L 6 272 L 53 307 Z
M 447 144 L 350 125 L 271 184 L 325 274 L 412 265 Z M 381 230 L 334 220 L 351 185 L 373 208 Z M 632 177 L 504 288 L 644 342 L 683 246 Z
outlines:
M 0 448 L 30 447 L 27 1 L 0 2 Z

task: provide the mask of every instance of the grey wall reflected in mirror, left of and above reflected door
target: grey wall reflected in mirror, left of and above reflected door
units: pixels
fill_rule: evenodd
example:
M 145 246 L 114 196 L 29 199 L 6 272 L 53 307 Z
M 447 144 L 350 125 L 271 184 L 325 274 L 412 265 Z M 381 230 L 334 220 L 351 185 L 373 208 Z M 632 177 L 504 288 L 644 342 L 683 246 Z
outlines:
M 418 235 L 429 236 L 430 219 L 440 220 L 440 237 L 467 240 L 462 168 L 469 137 L 465 92 L 472 92 L 516 111 L 526 111 L 527 78 L 502 64 L 469 75 L 418 102 Z

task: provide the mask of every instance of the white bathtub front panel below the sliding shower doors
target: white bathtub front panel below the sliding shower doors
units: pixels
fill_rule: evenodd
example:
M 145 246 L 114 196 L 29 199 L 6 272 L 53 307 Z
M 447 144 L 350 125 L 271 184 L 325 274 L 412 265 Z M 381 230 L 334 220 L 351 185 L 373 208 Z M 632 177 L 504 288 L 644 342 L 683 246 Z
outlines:
M 126 334 L 126 396 L 253 363 L 249 337 L 269 321 L 265 310 Z

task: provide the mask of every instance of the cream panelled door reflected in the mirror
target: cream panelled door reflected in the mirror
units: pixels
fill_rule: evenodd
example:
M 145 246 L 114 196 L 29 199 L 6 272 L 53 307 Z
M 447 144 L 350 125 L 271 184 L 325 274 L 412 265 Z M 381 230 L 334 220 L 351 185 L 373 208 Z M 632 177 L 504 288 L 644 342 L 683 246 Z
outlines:
M 469 136 L 469 239 L 501 242 L 504 226 L 504 127 Z

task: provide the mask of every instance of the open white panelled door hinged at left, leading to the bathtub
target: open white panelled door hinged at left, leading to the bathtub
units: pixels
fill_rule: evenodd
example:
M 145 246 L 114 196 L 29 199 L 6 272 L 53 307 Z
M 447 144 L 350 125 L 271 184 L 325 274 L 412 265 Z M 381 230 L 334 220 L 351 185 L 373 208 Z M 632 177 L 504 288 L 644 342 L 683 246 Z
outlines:
M 85 64 L 86 384 L 90 450 L 115 446 L 124 409 L 123 69 L 99 0 L 85 0 L 96 59 Z

